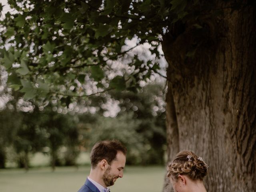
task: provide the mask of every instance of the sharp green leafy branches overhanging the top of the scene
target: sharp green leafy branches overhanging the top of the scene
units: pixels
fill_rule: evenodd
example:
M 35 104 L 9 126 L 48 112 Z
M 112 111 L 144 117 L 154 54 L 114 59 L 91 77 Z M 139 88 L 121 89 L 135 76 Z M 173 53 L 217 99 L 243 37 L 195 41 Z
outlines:
M 157 60 L 134 57 L 127 64 L 132 70 L 109 76 L 112 61 L 133 48 L 122 50 L 125 40 L 137 37 L 136 46 L 148 42 L 159 58 L 157 46 L 168 26 L 192 14 L 187 0 L 8 0 L 8 4 L 17 13 L 8 12 L 0 21 L 0 62 L 9 73 L 9 86 L 26 99 L 39 101 L 89 95 L 82 86 L 89 80 L 96 82 L 96 92 L 136 90 L 138 82 L 159 66 Z

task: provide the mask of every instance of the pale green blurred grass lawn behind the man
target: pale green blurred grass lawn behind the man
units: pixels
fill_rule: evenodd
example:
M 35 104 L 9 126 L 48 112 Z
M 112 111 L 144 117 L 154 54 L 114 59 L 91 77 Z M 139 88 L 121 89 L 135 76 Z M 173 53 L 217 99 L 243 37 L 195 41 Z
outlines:
M 0 192 L 77 192 L 84 184 L 90 166 L 0 170 Z M 124 177 L 111 192 L 161 192 L 165 168 L 126 166 Z

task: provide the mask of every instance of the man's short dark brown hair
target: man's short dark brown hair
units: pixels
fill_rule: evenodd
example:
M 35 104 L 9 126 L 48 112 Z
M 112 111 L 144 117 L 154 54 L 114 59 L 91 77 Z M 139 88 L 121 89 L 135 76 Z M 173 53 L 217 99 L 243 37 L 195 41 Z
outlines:
M 124 155 L 126 155 L 127 152 L 126 147 L 118 140 L 97 142 L 93 146 L 90 154 L 92 168 L 95 168 L 98 162 L 103 159 L 111 165 L 112 161 L 115 160 L 118 151 L 122 152 Z

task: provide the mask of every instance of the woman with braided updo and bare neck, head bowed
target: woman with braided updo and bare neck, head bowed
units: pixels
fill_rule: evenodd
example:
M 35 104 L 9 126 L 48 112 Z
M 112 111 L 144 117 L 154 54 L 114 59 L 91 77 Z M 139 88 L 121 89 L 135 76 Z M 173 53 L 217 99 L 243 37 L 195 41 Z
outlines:
M 167 167 L 174 192 L 206 192 L 203 178 L 208 165 L 191 151 L 179 152 Z

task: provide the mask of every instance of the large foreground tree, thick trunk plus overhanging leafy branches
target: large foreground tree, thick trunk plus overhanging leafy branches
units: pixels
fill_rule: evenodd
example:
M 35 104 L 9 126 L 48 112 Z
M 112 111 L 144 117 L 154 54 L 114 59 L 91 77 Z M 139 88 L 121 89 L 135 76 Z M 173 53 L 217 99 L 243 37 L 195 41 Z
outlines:
M 136 90 L 159 72 L 162 45 L 168 158 L 183 149 L 203 156 L 209 192 L 256 190 L 253 0 L 8 2 L 18 12 L 1 22 L 1 63 L 14 90 L 40 103 L 67 104 L 97 92 Z M 135 46 L 122 48 L 133 37 Z M 156 59 L 135 54 L 127 62 L 130 50 L 145 42 Z M 126 66 L 122 73 L 114 71 L 114 60 Z

